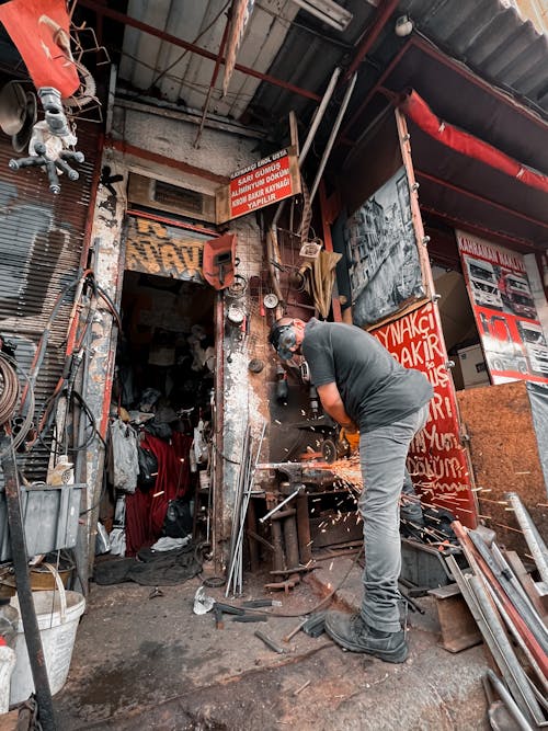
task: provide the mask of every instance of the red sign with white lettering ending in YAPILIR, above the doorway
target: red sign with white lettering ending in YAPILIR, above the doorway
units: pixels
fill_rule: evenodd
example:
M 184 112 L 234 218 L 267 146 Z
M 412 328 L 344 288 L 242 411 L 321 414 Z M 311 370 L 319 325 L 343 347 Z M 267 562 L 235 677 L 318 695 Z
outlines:
M 300 193 L 297 157 L 290 150 L 274 152 L 230 175 L 230 183 L 216 193 L 217 224 Z

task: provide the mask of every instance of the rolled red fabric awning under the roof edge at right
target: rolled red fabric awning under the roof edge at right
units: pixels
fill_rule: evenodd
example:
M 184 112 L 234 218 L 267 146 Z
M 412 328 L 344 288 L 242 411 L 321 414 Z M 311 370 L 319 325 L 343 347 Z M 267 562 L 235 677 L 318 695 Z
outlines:
M 480 160 L 487 165 L 515 178 L 524 185 L 548 193 L 548 178 L 546 175 L 523 165 L 492 145 L 473 137 L 473 135 L 443 122 L 415 91 L 407 94 L 399 106 L 415 125 L 442 145 L 469 158 Z

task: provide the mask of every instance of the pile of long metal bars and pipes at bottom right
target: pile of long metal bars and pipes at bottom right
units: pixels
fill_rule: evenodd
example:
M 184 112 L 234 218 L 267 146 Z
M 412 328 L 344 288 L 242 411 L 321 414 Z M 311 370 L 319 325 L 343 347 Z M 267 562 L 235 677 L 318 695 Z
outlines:
M 463 571 L 453 556 L 446 557 L 447 564 L 509 696 L 528 724 L 520 728 L 547 726 L 548 627 L 530 595 L 530 583 L 523 582 L 513 571 L 515 556 L 506 560 L 492 530 L 468 530 L 458 521 L 453 523 L 453 529 L 471 571 Z M 505 698 L 501 700 L 507 705 Z

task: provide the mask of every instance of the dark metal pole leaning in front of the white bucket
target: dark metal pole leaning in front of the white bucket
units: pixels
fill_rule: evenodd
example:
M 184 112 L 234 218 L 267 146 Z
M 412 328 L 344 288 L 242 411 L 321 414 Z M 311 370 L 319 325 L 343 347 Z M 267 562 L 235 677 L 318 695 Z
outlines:
M 38 718 L 44 731 L 55 731 L 54 704 L 49 678 L 44 658 L 44 648 L 36 619 L 36 610 L 33 602 L 28 566 L 26 563 L 26 547 L 21 517 L 21 502 L 19 494 L 18 470 L 15 468 L 15 455 L 11 438 L 2 432 L 0 434 L 0 454 L 2 454 L 2 469 L 4 476 L 5 504 L 8 512 L 8 525 L 10 527 L 10 542 L 18 586 L 19 606 L 23 629 L 25 633 L 26 649 L 31 664 L 32 676 L 38 701 Z

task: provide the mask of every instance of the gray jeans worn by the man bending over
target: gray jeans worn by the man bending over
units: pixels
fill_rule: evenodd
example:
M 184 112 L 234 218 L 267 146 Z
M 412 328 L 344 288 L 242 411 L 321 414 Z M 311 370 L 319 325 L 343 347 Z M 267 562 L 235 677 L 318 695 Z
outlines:
M 399 498 L 409 445 L 429 416 L 429 406 L 359 436 L 364 489 L 358 507 L 364 519 L 365 570 L 362 617 L 380 631 L 401 629 L 398 578 L 401 571 Z

